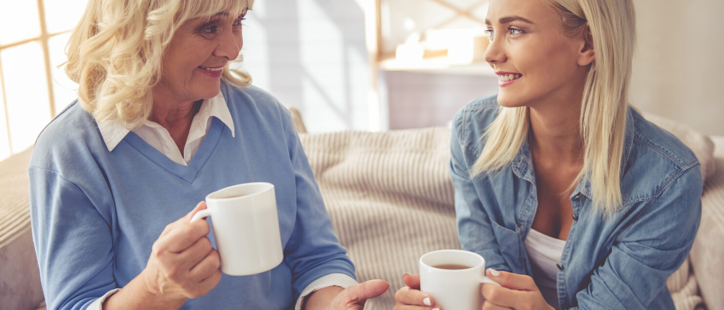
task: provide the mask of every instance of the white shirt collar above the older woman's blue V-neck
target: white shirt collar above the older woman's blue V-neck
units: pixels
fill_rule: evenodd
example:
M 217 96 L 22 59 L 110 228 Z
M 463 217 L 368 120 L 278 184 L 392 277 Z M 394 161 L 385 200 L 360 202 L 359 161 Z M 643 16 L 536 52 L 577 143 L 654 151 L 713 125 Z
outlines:
M 204 99 L 203 102 L 201 102 L 201 108 L 199 108 L 198 112 L 194 116 L 194 119 L 198 117 L 203 117 L 203 120 L 208 120 L 209 117 L 218 118 L 224 123 L 224 125 L 229 127 L 232 137 L 235 136 L 234 120 L 231 117 L 229 106 L 227 105 L 226 99 L 224 99 L 224 95 L 221 91 L 219 91 L 219 93 L 217 93 L 213 98 Z M 153 124 L 155 123 L 150 120 L 146 120 L 142 126 L 153 127 Z M 104 143 L 106 143 L 108 151 L 113 151 L 113 149 L 118 146 L 118 143 L 121 143 L 123 138 L 130 133 L 130 130 L 115 121 L 98 122 L 98 130 L 101 132 L 101 138 L 103 138 Z

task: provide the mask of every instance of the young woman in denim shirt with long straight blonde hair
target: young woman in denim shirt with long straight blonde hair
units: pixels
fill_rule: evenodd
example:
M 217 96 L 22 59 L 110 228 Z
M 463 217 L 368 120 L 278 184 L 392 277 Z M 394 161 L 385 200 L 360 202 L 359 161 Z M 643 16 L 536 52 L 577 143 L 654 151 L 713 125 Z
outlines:
M 699 162 L 627 104 L 631 0 L 491 0 L 500 93 L 455 116 L 458 236 L 483 309 L 673 309 L 701 217 Z M 405 275 L 395 309 L 434 309 Z M 451 310 L 451 309 L 447 309 Z

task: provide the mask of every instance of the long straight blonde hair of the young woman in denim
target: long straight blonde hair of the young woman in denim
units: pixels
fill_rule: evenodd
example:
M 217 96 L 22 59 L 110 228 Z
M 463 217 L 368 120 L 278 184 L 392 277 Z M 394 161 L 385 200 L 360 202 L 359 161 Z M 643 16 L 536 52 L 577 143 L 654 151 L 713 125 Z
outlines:
M 584 167 L 571 184 L 588 178 L 594 208 L 605 216 L 618 211 L 621 156 L 626 137 L 628 85 L 636 42 L 631 0 L 542 0 L 560 17 L 567 35 L 590 30 L 596 59 L 586 77 L 579 126 L 584 141 Z M 507 167 L 528 138 L 529 108 L 500 107 L 483 135 L 484 148 L 471 177 Z

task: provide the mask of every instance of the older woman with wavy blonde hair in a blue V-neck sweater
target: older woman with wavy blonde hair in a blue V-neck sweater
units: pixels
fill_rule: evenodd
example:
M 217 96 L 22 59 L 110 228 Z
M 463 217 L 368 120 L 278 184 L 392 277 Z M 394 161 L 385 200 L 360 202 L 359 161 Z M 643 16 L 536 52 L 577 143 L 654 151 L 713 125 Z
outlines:
M 28 169 L 49 309 L 361 309 L 387 290 L 355 282 L 290 114 L 228 68 L 252 2 L 89 1 L 68 46 L 80 98 Z M 275 185 L 285 259 L 222 275 L 193 206 L 256 181 Z

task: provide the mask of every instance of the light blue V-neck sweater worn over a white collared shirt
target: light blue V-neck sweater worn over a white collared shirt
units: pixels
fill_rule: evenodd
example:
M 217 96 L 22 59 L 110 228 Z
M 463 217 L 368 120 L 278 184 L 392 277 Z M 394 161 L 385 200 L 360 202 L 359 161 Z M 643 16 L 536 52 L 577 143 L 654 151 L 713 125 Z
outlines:
M 108 151 L 77 102 L 38 137 L 30 159 L 30 209 L 50 309 L 80 308 L 136 277 L 164 227 L 206 194 L 248 182 L 274 184 L 285 259 L 258 275 L 223 275 L 182 309 L 291 309 L 324 275 L 354 277 L 289 112 L 258 88 L 222 84 L 235 137 L 218 119 L 188 166 L 135 133 Z M 209 235 L 214 243 L 214 235 Z M 215 244 L 215 243 L 214 243 Z

